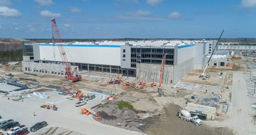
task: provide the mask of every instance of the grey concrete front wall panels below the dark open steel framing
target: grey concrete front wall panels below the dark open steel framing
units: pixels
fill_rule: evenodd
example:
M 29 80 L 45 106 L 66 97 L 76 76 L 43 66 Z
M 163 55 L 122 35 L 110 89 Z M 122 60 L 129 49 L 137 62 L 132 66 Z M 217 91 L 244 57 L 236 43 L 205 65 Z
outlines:
M 161 65 L 137 63 L 136 75 L 138 81 L 146 81 L 147 83 L 156 82 L 159 84 L 160 70 Z M 173 66 L 165 65 L 162 76 L 162 84 L 173 84 Z

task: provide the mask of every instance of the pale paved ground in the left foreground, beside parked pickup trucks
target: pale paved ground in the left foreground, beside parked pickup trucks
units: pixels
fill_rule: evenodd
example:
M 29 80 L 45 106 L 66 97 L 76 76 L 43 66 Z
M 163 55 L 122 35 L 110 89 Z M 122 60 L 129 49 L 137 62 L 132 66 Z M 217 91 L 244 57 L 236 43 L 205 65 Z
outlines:
M 33 103 L 33 100 L 36 102 Z M 13 119 L 30 128 L 36 122 L 46 121 L 46 127 L 63 127 L 86 135 L 145 135 L 136 131 L 124 130 L 95 121 L 91 115 L 81 115 L 80 108 L 69 107 L 70 100 L 58 101 L 58 111 L 40 108 L 46 99 L 24 99 L 24 102 L 11 101 L 0 97 L 1 120 Z M 39 103 L 38 103 L 39 102 Z M 35 111 L 37 116 L 33 116 Z M 36 135 L 36 133 L 34 133 Z

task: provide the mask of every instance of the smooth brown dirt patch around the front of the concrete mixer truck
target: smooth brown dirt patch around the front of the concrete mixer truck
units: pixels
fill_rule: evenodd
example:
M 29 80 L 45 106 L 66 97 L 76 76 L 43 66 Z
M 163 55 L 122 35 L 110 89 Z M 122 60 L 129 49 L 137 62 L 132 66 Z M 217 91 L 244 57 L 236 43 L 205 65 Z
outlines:
M 203 124 L 195 126 L 195 124 L 182 121 L 176 112 L 181 107 L 176 104 L 168 104 L 164 107 L 163 115 L 153 116 L 145 119 L 141 127 L 145 133 L 149 135 L 234 135 L 233 131 L 223 128 L 210 128 Z

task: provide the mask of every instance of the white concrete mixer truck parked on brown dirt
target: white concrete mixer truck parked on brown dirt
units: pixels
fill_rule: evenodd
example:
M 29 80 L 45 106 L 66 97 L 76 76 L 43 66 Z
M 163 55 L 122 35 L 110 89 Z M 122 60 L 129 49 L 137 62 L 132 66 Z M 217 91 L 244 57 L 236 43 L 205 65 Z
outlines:
M 197 126 L 202 124 L 202 121 L 198 118 L 198 116 L 191 117 L 191 114 L 186 110 L 179 109 L 177 110 L 177 113 L 180 119 L 183 119 L 184 121 L 191 121 Z

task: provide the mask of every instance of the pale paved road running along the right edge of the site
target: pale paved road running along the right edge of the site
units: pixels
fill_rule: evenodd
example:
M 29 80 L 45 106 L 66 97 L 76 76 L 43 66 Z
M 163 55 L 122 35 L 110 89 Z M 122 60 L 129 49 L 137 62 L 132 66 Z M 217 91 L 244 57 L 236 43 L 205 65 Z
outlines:
M 255 115 L 255 111 L 252 110 L 250 105 L 243 75 L 243 72 L 234 72 L 231 117 L 224 121 L 206 121 L 204 123 L 209 124 L 209 126 L 232 128 L 238 135 L 256 134 L 256 126 L 252 121 L 252 115 Z M 238 109 L 242 111 L 237 112 Z

